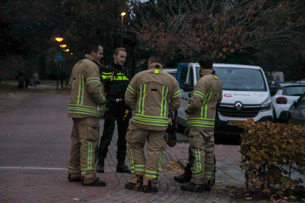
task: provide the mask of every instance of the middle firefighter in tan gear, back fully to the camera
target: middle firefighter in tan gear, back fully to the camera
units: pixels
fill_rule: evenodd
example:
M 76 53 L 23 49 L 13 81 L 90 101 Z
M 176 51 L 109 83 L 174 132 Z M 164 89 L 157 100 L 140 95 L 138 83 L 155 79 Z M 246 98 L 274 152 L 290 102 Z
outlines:
M 131 182 L 126 189 L 157 192 L 156 184 L 161 172 L 162 150 L 166 149 L 169 111 L 181 105 L 181 92 L 177 80 L 162 71 L 163 60 L 151 56 L 148 70 L 133 77 L 125 93 L 125 101 L 135 109 L 128 126 L 126 140 L 131 168 Z M 144 145 L 147 140 L 147 161 Z

